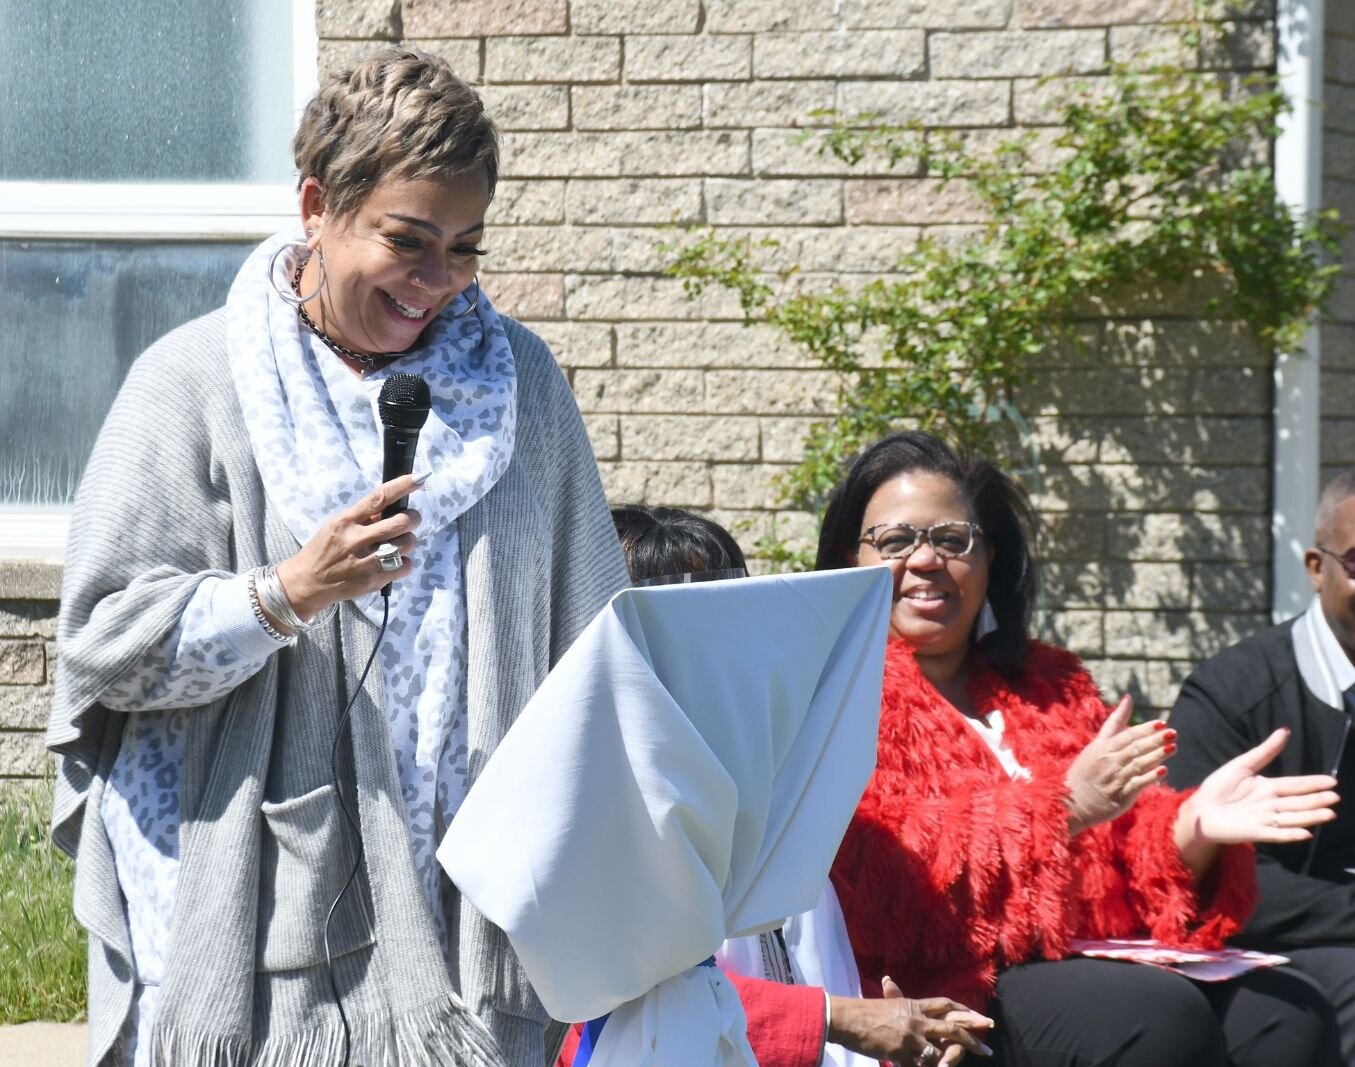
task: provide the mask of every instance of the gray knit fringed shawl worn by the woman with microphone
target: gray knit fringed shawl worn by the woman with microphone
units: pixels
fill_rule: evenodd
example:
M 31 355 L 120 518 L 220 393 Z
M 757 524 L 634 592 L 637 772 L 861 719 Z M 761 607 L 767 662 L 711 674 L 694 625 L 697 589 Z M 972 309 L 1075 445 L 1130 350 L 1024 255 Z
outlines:
M 568 384 L 535 335 L 504 325 L 518 366 L 518 441 L 508 470 L 461 518 L 472 780 L 550 666 L 626 584 Z M 92 1066 L 115 1063 L 134 980 L 100 815 L 123 717 L 100 696 L 165 639 L 203 578 L 297 548 L 263 491 L 226 363 L 225 316 L 213 312 L 133 366 L 80 485 L 66 550 L 47 746 L 58 757 L 53 838 L 76 857 L 75 908 L 89 933 Z M 340 1060 L 321 931 L 352 847 L 331 744 L 375 636 L 346 605 L 190 716 L 156 1063 Z M 459 900 L 447 971 L 411 855 L 379 670 L 351 723 L 340 773 L 346 796 L 358 796 L 364 862 L 331 941 L 352 1063 L 545 1063 L 550 1020 L 503 933 Z

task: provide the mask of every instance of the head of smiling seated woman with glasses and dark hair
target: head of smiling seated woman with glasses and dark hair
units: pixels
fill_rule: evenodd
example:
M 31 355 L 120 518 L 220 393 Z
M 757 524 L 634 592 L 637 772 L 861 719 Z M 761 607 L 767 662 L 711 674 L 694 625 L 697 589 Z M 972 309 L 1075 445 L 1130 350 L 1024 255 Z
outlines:
M 890 633 L 920 662 L 963 662 L 981 641 L 993 667 L 1015 672 L 1035 603 L 1034 530 L 1024 494 L 988 460 L 931 434 L 890 434 L 833 491 L 816 568 L 892 563 Z

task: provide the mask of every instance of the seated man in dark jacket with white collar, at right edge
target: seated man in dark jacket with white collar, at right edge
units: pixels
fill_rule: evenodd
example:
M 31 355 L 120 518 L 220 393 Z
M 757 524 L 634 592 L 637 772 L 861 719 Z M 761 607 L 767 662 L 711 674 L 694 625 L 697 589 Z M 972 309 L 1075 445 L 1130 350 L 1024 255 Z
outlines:
M 1198 785 L 1279 727 L 1290 740 L 1267 773 L 1333 774 L 1343 794 L 1355 780 L 1355 469 L 1322 491 L 1316 525 L 1304 553 L 1316 594 L 1308 610 L 1186 679 L 1171 714 L 1173 786 Z M 1289 956 L 1327 991 L 1355 1067 L 1355 796 L 1308 839 L 1259 846 L 1256 866 L 1260 902 L 1237 942 Z

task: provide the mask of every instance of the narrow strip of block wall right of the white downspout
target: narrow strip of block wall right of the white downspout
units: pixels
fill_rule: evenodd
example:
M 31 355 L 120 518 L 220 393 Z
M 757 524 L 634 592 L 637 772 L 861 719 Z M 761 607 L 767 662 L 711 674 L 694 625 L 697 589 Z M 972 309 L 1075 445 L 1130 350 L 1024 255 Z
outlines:
M 1355 222 L 1355 4 L 1327 5 L 1322 202 Z M 1322 473 L 1355 465 L 1355 229 L 1332 320 L 1322 327 Z

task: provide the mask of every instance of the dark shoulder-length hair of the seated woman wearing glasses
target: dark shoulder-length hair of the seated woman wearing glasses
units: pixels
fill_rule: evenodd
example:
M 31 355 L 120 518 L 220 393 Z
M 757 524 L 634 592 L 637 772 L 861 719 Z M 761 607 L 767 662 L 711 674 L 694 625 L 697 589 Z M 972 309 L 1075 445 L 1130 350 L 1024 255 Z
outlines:
M 978 651 L 1007 675 L 1026 664 L 1026 643 L 1035 611 L 1035 512 L 1026 494 L 981 456 L 957 451 L 940 438 L 921 431 L 890 434 L 860 453 L 833 489 L 818 534 L 814 569 L 851 567 L 860 523 L 875 491 L 898 475 L 925 472 L 951 481 L 969 502 L 984 537 L 993 548 L 988 601 L 997 629 Z

